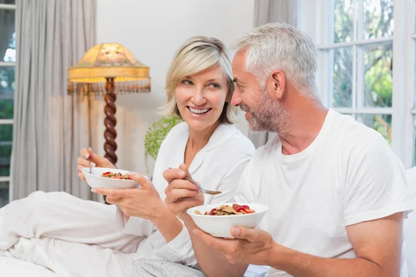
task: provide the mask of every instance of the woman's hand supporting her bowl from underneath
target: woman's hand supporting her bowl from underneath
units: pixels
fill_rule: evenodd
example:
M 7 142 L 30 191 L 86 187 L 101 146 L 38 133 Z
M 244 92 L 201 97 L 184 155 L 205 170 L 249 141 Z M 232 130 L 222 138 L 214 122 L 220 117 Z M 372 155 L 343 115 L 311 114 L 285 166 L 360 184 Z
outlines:
M 107 195 L 105 200 L 119 207 L 127 217 L 141 217 L 153 221 L 169 212 L 152 182 L 137 173 L 130 173 L 129 177 L 139 182 L 141 188 L 93 188 L 92 192 Z

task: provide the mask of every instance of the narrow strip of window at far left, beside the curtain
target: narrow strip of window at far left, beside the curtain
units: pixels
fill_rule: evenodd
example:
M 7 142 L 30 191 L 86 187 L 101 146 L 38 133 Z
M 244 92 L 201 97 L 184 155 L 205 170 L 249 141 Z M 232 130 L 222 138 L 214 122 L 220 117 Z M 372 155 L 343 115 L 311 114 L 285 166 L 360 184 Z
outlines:
M 15 92 L 15 0 L 0 0 L 0 207 L 8 203 Z

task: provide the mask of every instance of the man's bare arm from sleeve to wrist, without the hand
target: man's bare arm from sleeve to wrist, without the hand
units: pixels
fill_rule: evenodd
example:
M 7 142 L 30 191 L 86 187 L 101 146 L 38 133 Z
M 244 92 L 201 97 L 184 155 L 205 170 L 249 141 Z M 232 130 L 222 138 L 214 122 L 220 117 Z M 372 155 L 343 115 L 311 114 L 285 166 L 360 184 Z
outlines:
M 277 250 L 270 266 L 302 277 L 400 276 L 402 226 L 403 213 L 347 226 L 353 259 L 318 258 L 286 249 Z

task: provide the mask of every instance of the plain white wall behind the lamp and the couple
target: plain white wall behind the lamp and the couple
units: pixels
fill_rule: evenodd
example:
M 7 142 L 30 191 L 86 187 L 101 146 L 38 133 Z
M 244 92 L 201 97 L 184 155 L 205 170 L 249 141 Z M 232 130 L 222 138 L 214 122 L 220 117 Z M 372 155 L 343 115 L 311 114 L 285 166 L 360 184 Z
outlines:
M 252 28 L 254 0 L 99 0 L 97 43 L 119 42 L 150 66 L 152 91 L 117 96 L 117 166 L 145 172 L 144 133 L 159 118 L 165 102 L 164 82 L 177 48 L 194 35 L 217 37 L 231 44 Z M 103 98 L 98 105 L 96 152 L 103 151 Z M 237 125 L 247 134 L 242 118 Z

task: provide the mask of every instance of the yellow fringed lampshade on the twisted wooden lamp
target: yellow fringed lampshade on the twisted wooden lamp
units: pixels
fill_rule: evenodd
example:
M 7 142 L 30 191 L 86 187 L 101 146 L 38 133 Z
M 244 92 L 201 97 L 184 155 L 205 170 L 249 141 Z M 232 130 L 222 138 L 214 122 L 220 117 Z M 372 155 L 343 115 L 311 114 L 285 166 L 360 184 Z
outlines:
M 149 67 L 118 43 L 97 44 L 68 69 L 68 93 L 106 93 L 108 78 L 114 93 L 150 91 Z

